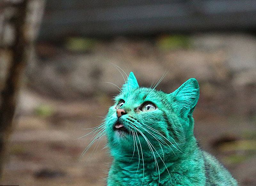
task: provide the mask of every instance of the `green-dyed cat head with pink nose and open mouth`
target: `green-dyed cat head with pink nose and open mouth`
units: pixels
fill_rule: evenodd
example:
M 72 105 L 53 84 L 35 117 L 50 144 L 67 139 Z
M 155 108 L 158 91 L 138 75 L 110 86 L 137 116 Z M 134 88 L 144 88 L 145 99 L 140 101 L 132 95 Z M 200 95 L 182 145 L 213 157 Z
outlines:
M 154 149 L 181 151 L 193 136 L 192 113 L 198 97 L 196 79 L 189 79 L 172 93 L 164 93 L 139 87 L 131 72 L 105 119 L 112 155 L 134 154 L 137 148 L 138 153 L 143 149 L 144 156 L 147 152 L 150 156 Z

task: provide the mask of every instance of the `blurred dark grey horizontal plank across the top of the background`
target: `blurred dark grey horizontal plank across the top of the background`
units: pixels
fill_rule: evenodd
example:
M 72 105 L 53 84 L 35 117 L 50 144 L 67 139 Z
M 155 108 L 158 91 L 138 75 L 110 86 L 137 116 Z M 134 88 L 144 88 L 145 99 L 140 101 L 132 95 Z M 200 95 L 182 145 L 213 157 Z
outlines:
M 122 35 L 203 30 L 255 29 L 255 0 L 198 1 L 51 1 L 40 39 L 67 35 Z M 55 9 L 57 2 L 61 8 Z M 63 3 L 65 2 L 65 3 Z M 70 1 L 68 1 L 70 2 Z M 102 2 L 102 4 L 100 3 Z M 109 4 L 105 4 L 108 2 Z M 112 2 L 112 1 L 111 1 Z M 129 2 L 129 3 L 127 3 Z M 121 6 L 122 5 L 122 6 Z M 48 4 L 49 6 L 49 4 Z M 68 8 L 66 8 L 68 7 Z

